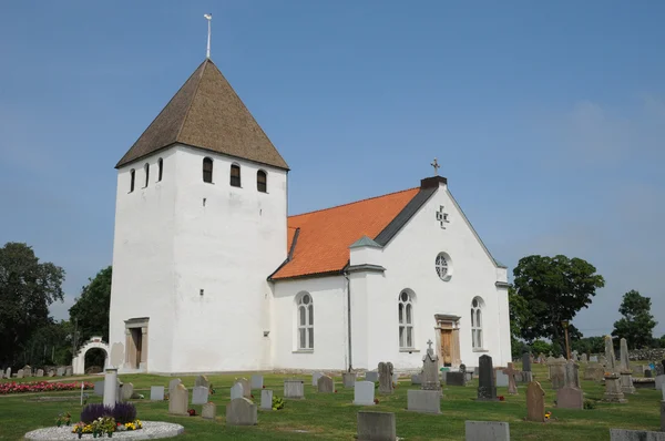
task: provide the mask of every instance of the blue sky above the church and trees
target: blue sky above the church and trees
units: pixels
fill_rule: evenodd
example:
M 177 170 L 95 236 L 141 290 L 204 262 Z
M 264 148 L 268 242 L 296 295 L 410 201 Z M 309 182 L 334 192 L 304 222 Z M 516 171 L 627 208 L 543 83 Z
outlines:
M 112 258 L 113 166 L 205 57 L 291 167 L 291 214 L 440 173 L 494 256 L 590 260 L 575 325 L 652 297 L 665 334 L 665 3 L 6 2 L 0 243 L 66 270 Z

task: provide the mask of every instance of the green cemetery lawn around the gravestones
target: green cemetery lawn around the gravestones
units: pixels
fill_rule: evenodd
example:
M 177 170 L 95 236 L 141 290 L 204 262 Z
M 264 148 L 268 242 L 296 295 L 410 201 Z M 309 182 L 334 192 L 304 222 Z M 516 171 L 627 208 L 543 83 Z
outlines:
M 608 440 L 611 428 L 658 430 L 661 424 L 661 392 L 655 389 L 637 389 L 637 394 L 626 396 L 627 404 L 608 404 L 600 400 L 604 387 L 592 381 L 582 381 L 585 399 L 596 402 L 592 410 L 560 410 L 553 404 L 552 391 L 544 366 L 534 365 L 534 373 L 545 390 L 545 410 L 552 412 L 553 421 L 548 423 L 525 422 L 526 387 L 520 384 L 519 396 L 509 396 L 507 388 L 499 388 L 498 394 L 505 397 L 503 402 L 475 402 L 478 380 L 467 387 L 443 387 L 439 416 L 406 411 L 409 379 L 401 379 L 392 396 L 379 396 L 378 406 L 361 408 L 352 406 L 354 391 L 344 389 L 341 379 L 336 378 L 338 393 L 319 394 L 311 387 L 311 377 L 305 380 L 305 400 L 285 400 L 286 406 L 278 411 L 258 411 L 258 425 L 231 428 L 224 424 L 225 406 L 229 401 L 231 387 L 236 375 L 208 376 L 215 394 L 211 401 L 217 404 L 217 419 L 203 420 L 201 417 L 173 417 L 167 413 L 168 403 L 151 402 L 151 386 L 167 386 L 168 377 L 153 375 L 120 376 L 124 382 L 132 382 L 137 393 L 145 399 L 132 400 L 136 404 L 141 420 L 168 421 L 185 427 L 181 440 L 354 440 L 356 413 L 359 410 L 395 412 L 397 435 L 407 441 L 418 440 L 463 440 L 464 421 L 507 421 L 510 423 L 513 440 Z M 585 366 L 581 366 L 581 373 Z M 249 375 L 244 375 L 249 379 Z M 194 386 L 195 377 L 180 377 L 187 388 Z M 266 375 L 264 383 L 273 389 L 276 397 L 283 396 L 283 381 L 287 376 Z M 98 381 L 102 377 L 89 378 Z M 62 379 L 68 381 L 66 379 Z M 6 381 L 6 380 L 3 380 Z M 92 391 L 89 402 L 101 402 Z M 378 392 L 378 388 L 377 388 Z M 190 392 L 191 393 L 191 392 Z M 260 401 L 260 392 L 255 391 L 255 402 Z M 45 398 L 48 401 L 38 401 Z M 60 400 L 60 401 L 54 401 Z M 201 413 L 201 406 L 190 406 Z M 0 396 L 0 440 L 20 440 L 30 430 L 54 424 L 60 412 L 71 412 L 72 421 L 78 421 L 81 407 L 79 392 L 47 392 L 19 396 Z

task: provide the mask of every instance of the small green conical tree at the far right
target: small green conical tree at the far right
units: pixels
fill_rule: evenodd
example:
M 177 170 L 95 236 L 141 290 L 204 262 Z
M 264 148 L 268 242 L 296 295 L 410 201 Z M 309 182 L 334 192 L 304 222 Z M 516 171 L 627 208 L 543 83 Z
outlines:
M 652 346 L 653 331 L 658 322 L 651 314 L 651 298 L 631 289 L 624 294 L 618 312 L 623 317 L 614 322 L 612 335 L 625 338 L 632 349 Z

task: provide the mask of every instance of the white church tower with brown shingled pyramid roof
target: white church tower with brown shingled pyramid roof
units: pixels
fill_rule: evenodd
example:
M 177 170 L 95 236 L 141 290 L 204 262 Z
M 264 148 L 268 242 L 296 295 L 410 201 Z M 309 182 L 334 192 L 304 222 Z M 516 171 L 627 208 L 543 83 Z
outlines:
M 209 59 L 116 168 L 111 363 L 270 368 L 267 276 L 287 257 L 288 165 Z

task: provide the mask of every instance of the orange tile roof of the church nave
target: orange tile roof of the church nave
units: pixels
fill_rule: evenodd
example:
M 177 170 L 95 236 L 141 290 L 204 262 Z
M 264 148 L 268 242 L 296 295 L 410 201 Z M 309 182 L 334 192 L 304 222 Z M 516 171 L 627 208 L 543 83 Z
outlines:
M 340 271 L 349 261 L 349 246 L 379 233 L 416 196 L 419 188 L 358 201 L 288 218 L 288 250 L 296 229 L 293 258 L 272 276 L 285 279 L 315 274 Z

